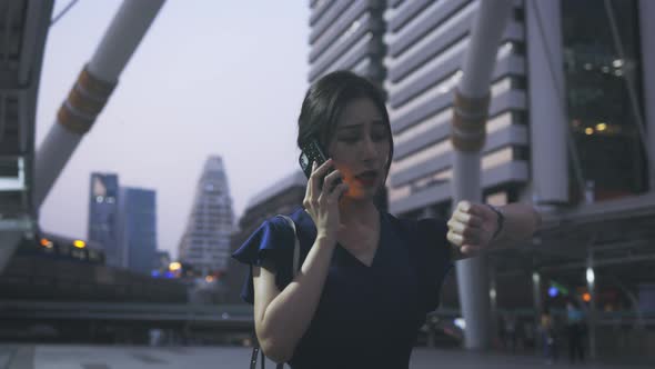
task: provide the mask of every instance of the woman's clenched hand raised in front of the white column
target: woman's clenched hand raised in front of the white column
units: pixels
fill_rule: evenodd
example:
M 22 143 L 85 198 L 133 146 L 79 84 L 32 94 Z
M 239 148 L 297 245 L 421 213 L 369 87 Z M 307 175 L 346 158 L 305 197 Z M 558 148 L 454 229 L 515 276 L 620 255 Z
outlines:
M 464 255 L 488 248 L 497 226 L 497 215 L 486 205 L 460 201 L 447 222 L 447 239 Z

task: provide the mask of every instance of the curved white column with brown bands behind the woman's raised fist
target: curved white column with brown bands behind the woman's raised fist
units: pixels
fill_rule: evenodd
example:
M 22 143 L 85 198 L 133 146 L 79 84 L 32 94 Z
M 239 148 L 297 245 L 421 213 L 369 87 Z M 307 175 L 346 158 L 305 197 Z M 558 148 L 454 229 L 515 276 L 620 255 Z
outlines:
M 480 151 L 485 140 L 490 81 L 512 6 L 512 0 L 481 1 L 473 21 L 453 109 L 453 207 L 460 200 L 482 200 Z M 491 306 L 486 256 L 458 261 L 456 271 L 460 306 L 466 322 L 464 346 L 487 349 Z

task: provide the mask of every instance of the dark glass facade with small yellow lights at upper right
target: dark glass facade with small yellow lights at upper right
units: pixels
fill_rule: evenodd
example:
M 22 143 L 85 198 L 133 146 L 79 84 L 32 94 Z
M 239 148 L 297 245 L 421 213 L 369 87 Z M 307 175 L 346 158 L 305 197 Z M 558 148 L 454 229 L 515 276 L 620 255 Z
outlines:
M 612 0 L 617 34 L 608 12 L 594 0 L 562 1 L 565 101 L 584 183 L 596 200 L 647 189 L 646 158 L 626 79 L 642 102 L 636 0 Z M 615 44 L 618 38 L 624 56 Z M 643 113 L 639 111 L 639 114 Z M 572 166 L 577 163 L 572 160 Z M 575 167 L 572 167 L 575 168 Z

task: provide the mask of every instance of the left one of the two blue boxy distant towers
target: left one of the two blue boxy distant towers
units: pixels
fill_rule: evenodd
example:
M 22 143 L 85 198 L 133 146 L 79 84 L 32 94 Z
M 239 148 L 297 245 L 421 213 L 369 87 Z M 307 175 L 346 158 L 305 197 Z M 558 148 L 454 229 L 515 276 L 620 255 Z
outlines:
M 102 245 L 105 262 L 112 267 L 123 265 L 118 235 L 118 196 L 117 174 L 91 173 L 87 238 Z

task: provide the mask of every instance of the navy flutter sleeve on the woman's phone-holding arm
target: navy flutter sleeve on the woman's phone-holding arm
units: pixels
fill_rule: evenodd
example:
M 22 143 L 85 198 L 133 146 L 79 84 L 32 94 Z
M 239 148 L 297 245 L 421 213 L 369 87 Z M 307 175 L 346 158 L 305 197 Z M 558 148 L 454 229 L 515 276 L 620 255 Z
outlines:
M 241 289 L 241 298 L 254 302 L 252 267 L 261 266 L 264 260 L 275 268 L 275 285 L 284 289 L 293 278 L 293 247 L 295 235 L 290 225 L 281 217 L 265 220 L 241 247 L 232 253 L 232 258 L 249 266 L 246 279 Z

